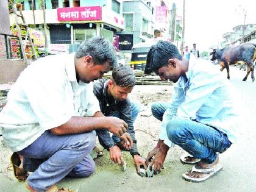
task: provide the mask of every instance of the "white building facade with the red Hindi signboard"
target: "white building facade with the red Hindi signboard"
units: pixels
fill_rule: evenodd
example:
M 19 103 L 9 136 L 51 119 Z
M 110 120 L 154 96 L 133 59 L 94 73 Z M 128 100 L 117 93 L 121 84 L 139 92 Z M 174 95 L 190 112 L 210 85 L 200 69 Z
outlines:
M 121 0 L 45 0 L 49 52 L 73 52 L 78 44 L 95 36 L 113 36 L 124 29 Z M 39 1 L 24 1 L 23 15 L 27 24 L 43 29 L 43 10 Z M 10 23 L 14 23 L 10 15 Z

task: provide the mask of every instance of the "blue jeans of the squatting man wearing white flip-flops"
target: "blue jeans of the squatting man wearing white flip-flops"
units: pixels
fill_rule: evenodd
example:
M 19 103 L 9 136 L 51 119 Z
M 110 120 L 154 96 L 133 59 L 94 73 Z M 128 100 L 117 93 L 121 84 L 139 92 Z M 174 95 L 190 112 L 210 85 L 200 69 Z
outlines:
M 168 105 L 158 102 L 152 106 L 153 115 L 161 119 Z M 225 133 L 192 120 L 171 119 L 166 132 L 172 143 L 208 164 L 215 162 L 216 152 L 222 153 L 232 144 Z

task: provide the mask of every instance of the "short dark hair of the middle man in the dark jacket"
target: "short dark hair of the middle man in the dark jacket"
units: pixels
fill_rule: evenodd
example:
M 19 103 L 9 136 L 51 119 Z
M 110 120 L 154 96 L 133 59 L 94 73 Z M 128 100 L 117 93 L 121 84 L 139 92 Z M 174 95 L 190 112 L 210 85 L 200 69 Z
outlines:
M 111 79 L 120 87 L 133 87 L 136 84 L 135 74 L 127 65 L 118 65 L 113 68 Z

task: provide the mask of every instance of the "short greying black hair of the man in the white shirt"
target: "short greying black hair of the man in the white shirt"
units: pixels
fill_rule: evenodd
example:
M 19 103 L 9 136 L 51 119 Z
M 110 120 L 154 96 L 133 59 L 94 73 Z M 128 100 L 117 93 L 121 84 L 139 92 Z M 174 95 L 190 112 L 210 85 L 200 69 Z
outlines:
M 93 57 L 95 65 L 110 62 L 110 66 L 115 67 L 117 63 L 115 49 L 105 37 L 94 37 L 83 41 L 76 51 L 76 58 L 82 58 L 85 55 Z

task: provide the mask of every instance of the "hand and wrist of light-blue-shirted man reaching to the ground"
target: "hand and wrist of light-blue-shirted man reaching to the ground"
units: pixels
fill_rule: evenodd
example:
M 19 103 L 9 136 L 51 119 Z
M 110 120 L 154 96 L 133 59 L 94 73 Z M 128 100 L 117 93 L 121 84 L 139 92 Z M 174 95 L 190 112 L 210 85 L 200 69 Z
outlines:
M 163 169 L 163 162 L 165 162 L 166 154 L 169 150 L 169 147 L 162 143 L 160 148 L 157 149 L 154 159 L 152 160 L 151 164 L 149 165 L 151 168 L 154 165 L 154 172 L 160 172 Z

